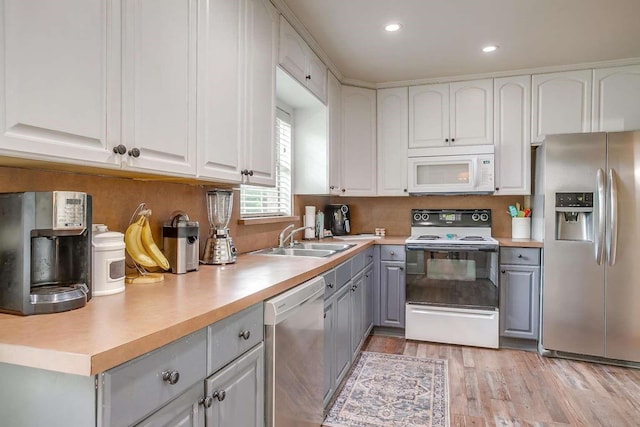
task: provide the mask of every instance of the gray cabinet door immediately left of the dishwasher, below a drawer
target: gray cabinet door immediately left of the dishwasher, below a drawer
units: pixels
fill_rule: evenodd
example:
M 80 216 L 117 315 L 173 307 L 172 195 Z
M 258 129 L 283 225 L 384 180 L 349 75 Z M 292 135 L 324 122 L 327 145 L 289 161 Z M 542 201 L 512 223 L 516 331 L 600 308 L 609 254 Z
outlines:
M 207 378 L 208 426 L 264 425 L 264 344 L 260 343 L 226 368 Z

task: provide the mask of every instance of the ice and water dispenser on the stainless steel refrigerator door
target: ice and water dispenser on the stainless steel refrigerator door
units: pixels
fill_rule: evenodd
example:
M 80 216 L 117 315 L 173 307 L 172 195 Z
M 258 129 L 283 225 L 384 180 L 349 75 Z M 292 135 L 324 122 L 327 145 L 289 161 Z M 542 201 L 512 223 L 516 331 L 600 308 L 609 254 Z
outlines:
M 593 241 L 593 193 L 556 193 L 556 240 Z

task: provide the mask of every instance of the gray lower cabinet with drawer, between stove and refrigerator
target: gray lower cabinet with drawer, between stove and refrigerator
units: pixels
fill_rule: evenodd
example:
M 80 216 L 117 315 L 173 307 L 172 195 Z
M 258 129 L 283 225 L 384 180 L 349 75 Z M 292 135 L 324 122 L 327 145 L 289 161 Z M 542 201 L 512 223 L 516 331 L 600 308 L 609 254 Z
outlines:
M 540 250 L 501 248 L 500 337 L 537 341 L 539 316 Z

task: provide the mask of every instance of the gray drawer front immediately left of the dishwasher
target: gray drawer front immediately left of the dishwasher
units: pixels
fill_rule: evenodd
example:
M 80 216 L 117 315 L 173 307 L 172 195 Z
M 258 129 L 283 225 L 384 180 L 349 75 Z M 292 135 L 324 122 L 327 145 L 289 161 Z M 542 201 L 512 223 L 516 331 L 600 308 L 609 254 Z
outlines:
M 211 375 L 263 340 L 262 303 L 207 327 L 207 375 Z

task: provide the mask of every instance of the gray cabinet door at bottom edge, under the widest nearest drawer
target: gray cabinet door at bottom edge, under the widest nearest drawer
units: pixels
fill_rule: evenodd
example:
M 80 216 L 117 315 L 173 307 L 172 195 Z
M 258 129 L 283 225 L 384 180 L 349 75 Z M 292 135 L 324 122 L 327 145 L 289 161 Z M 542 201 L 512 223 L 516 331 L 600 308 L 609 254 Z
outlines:
M 176 400 L 142 421 L 142 427 L 204 427 L 204 386 L 199 382 Z

